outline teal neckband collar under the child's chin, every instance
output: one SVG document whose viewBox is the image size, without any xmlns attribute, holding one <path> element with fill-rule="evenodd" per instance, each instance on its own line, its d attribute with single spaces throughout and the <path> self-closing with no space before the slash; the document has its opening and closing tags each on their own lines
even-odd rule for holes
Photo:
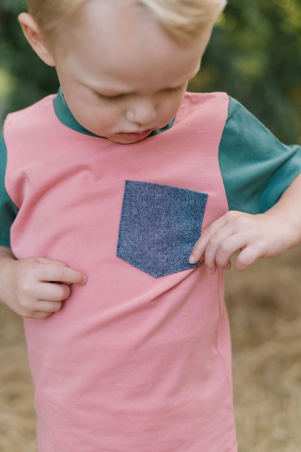
<svg viewBox="0 0 301 452">
<path fill-rule="evenodd" d="M 76 132 L 84 133 L 85 135 L 90 135 L 91 137 L 105 138 L 106 140 L 108 139 L 107 137 L 95 135 L 95 133 L 90 132 L 88 129 L 79 124 L 79 122 L 74 118 L 73 114 L 71 113 L 71 110 L 69 109 L 68 105 L 66 104 L 61 87 L 57 92 L 57 96 L 53 100 L 53 105 L 56 112 L 56 116 L 59 118 L 60 122 L 62 122 L 65 126 L 69 127 L 70 129 L 76 130 Z M 146 138 L 153 137 L 154 135 L 158 135 L 159 133 L 165 132 L 166 130 L 170 129 L 175 119 L 176 117 L 171 119 L 171 122 L 168 122 L 168 124 L 165 127 L 162 127 L 162 129 L 153 130 L 153 132 L 151 132 Z M 145 138 L 143 139 L 145 140 Z"/>
</svg>

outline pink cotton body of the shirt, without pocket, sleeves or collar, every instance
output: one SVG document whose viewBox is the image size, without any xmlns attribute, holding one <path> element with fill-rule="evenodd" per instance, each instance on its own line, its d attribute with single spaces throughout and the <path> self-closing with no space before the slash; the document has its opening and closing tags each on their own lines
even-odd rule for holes
<svg viewBox="0 0 301 452">
<path fill-rule="evenodd" d="M 15 256 L 88 276 L 60 311 L 24 319 L 39 452 L 237 451 L 223 272 L 154 278 L 116 257 L 125 180 L 208 193 L 202 233 L 227 212 L 227 94 L 186 93 L 171 129 L 129 145 L 66 127 L 54 97 L 4 128 Z"/>
</svg>

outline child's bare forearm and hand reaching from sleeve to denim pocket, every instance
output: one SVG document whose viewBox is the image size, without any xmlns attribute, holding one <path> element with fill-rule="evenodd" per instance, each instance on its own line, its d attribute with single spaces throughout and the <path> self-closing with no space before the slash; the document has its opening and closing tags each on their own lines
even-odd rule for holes
<svg viewBox="0 0 301 452">
<path fill-rule="evenodd" d="M 260 257 L 273 258 L 301 243 L 301 174 L 279 201 L 265 213 L 252 215 L 229 211 L 214 221 L 194 245 L 190 263 L 205 259 L 208 273 L 216 266 L 231 268 L 237 250 L 236 268 L 245 270 Z M 201 259 L 202 260 L 202 259 Z"/>
</svg>

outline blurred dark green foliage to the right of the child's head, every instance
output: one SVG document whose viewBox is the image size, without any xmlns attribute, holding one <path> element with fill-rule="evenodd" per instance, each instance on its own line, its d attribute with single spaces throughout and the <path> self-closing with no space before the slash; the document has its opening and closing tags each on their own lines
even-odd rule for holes
<svg viewBox="0 0 301 452">
<path fill-rule="evenodd" d="M 189 88 L 226 91 L 282 141 L 301 141 L 301 1 L 229 0 Z"/>
</svg>

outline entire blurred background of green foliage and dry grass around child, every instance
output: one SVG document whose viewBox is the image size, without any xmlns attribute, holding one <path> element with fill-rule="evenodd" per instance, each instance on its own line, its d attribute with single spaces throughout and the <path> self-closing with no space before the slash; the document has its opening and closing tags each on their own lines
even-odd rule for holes
<svg viewBox="0 0 301 452">
<path fill-rule="evenodd" d="M 54 68 L 0 0 L 0 128 L 56 93 Z M 301 144 L 301 1 L 229 0 L 189 91 L 226 91 L 286 144 Z M 227 273 L 239 452 L 301 451 L 301 246 Z M 0 451 L 37 452 L 23 320 L 0 305 Z M 201 451 L 206 452 L 206 451 Z"/>
</svg>

